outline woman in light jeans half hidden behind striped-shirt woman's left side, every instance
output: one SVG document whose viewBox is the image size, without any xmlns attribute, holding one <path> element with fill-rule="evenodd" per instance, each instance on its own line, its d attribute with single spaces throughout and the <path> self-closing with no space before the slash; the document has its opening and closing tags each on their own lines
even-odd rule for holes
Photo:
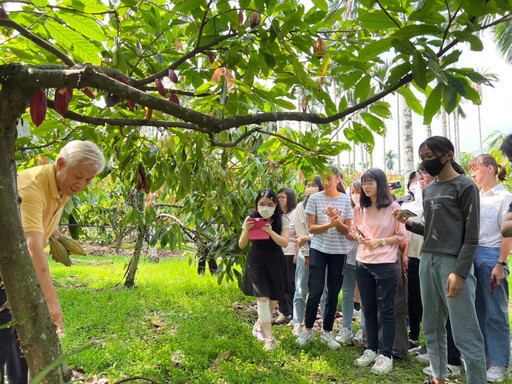
<svg viewBox="0 0 512 384">
<path fill-rule="evenodd" d="M 309 281 L 309 244 L 312 235 L 308 231 L 307 217 L 305 209 L 308 201 L 312 195 L 323 191 L 322 178 L 315 176 L 312 181 L 308 181 L 306 188 L 304 188 L 304 195 L 306 198 L 303 202 L 297 205 L 295 209 L 295 240 L 296 240 L 296 255 L 295 258 L 295 294 L 293 295 L 293 335 L 299 336 L 302 331 L 302 322 L 304 320 L 304 312 L 306 311 L 306 297 L 308 295 L 308 281 Z M 321 307 L 325 306 L 325 296 L 322 296 L 323 303 Z M 323 313 L 323 309 L 322 309 Z"/>
</svg>

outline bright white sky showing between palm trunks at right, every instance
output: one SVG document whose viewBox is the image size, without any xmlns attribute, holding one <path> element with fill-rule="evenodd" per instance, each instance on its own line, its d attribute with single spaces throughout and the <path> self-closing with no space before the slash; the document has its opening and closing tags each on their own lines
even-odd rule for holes
<svg viewBox="0 0 512 384">
<path fill-rule="evenodd" d="M 491 34 L 486 33 L 482 37 L 484 49 L 480 52 L 469 50 L 464 47 L 458 66 L 474 68 L 479 72 L 494 73 L 498 76 L 498 81 L 494 82 L 493 87 L 483 87 L 482 104 L 480 106 L 480 116 L 482 124 L 483 152 L 487 151 L 485 139 L 494 131 L 500 131 L 504 134 L 512 133 L 512 65 L 507 64 L 498 54 Z M 395 97 L 385 99 L 391 104 L 391 111 L 396 115 Z M 460 119 L 460 146 L 461 152 L 480 154 L 480 139 L 478 132 L 478 108 L 470 101 L 465 101 L 462 109 L 466 113 L 465 119 Z M 424 101 L 422 101 L 424 104 Z M 386 120 L 388 134 L 386 135 L 386 151 L 393 149 L 396 152 L 398 147 L 397 121 L 395 119 Z M 441 135 L 441 119 L 434 117 L 432 120 L 432 134 Z M 423 117 L 413 112 L 413 135 L 415 148 L 415 164 L 418 164 L 419 158 L 417 148 L 426 139 Z M 373 165 L 383 168 L 383 138 L 375 135 L 375 148 L 373 151 Z M 356 149 L 356 162 L 360 162 L 361 155 Z M 341 165 L 348 164 L 348 155 L 340 156 Z M 395 168 L 398 169 L 398 162 L 395 161 Z M 360 166 L 356 169 L 361 170 Z"/>
</svg>

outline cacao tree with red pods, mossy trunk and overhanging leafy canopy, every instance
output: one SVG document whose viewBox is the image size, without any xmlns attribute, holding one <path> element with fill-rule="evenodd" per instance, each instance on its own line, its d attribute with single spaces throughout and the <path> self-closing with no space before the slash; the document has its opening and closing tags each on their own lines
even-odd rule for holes
<svg viewBox="0 0 512 384">
<path fill-rule="evenodd" d="M 282 174 L 312 173 L 349 148 L 334 139 L 340 132 L 354 145 L 383 134 L 390 112 L 379 101 L 386 95 L 400 93 L 425 124 L 461 98 L 478 103 L 471 85 L 489 79 L 457 68 L 461 46 L 481 50 L 478 32 L 510 21 L 512 11 L 504 0 L 364 0 L 347 19 L 343 4 L 2 2 L 0 275 L 14 318 L 29 316 L 17 329 L 34 375 L 61 351 L 24 242 L 15 159 L 30 163 L 27 155 L 74 138 L 95 141 L 120 174 L 131 174 L 125 183 L 142 162 L 151 192 L 162 190 L 185 207 L 182 223 L 226 237 L 246 214 L 251 191 L 269 183 L 274 164 Z M 392 65 L 380 84 L 372 69 L 384 56 Z M 353 92 L 353 105 L 346 97 L 333 102 L 333 81 Z M 307 95 L 300 111 L 295 93 Z M 322 109 L 311 113 L 313 102 Z M 32 135 L 16 140 L 21 119 L 30 121 Z M 293 122 L 308 128 L 298 131 Z M 144 138 L 141 126 L 157 127 L 161 140 Z M 246 157 L 244 148 L 256 156 Z M 252 185 L 230 184 L 250 180 L 237 179 L 234 169 L 247 169 Z M 229 188 L 236 198 L 226 198 Z M 212 213 L 219 221 L 207 225 Z M 46 379 L 65 381 L 65 365 Z"/>
</svg>

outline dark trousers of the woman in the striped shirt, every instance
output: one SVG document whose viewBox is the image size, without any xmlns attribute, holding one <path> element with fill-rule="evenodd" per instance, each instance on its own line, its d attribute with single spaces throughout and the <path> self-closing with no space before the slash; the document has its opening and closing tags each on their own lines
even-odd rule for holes
<svg viewBox="0 0 512 384">
<path fill-rule="evenodd" d="M 306 328 L 313 328 L 318 304 L 327 285 L 323 329 L 330 332 L 336 316 L 338 295 L 343 284 L 343 269 L 347 255 L 324 253 L 314 248 L 309 250 L 309 255 L 309 297 L 306 304 Z"/>
</svg>

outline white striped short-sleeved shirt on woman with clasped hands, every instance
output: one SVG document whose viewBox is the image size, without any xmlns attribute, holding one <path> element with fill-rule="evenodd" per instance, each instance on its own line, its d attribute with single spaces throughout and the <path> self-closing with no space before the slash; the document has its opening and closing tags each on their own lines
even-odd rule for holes
<svg viewBox="0 0 512 384">
<path fill-rule="evenodd" d="M 325 209 L 329 204 L 333 209 L 338 208 L 342 221 L 353 218 L 354 210 L 350 205 L 350 197 L 344 193 L 336 198 L 327 197 L 324 192 L 315 193 L 309 197 L 306 214 L 315 216 L 315 224 L 317 225 L 328 224 L 331 219 L 325 213 Z M 331 255 L 348 253 L 347 239 L 336 227 L 315 234 L 311 240 L 311 248 Z"/>
</svg>

